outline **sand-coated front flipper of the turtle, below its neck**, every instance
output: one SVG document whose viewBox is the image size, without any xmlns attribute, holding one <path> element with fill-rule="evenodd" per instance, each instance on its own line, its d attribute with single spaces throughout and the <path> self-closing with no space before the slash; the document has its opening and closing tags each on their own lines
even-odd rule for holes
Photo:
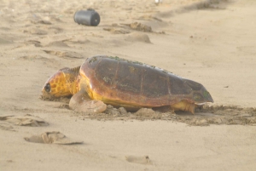
<svg viewBox="0 0 256 171">
<path fill-rule="evenodd" d="M 84 90 L 80 90 L 69 101 L 69 108 L 85 113 L 101 113 L 106 111 L 107 105 L 101 100 L 91 100 Z"/>
</svg>

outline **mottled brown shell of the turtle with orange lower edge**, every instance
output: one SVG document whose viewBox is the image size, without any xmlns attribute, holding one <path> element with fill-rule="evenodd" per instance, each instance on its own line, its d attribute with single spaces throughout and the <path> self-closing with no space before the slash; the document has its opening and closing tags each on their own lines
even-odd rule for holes
<svg viewBox="0 0 256 171">
<path fill-rule="evenodd" d="M 207 89 L 169 71 L 118 57 L 94 56 L 80 68 L 91 99 L 126 108 L 213 102 Z"/>
</svg>

